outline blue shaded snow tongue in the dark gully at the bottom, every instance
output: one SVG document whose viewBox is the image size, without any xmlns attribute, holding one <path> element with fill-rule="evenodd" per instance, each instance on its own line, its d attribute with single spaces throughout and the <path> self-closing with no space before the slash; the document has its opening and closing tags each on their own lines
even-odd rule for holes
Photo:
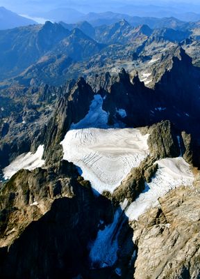
<svg viewBox="0 0 200 279">
<path fill-rule="evenodd" d="M 124 220 L 122 210 L 115 213 L 113 223 L 99 230 L 97 238 L 90 245 L 90 260 L 92 265 L 98 264 L 100 268 L 113 266 L 117 261 L 119 249 L 117 238 Z"/>
</svg>

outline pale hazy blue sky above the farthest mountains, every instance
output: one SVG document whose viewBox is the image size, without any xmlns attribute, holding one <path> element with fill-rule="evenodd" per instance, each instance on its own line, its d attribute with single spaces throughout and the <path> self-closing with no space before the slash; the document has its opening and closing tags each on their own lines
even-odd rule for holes
<svg viewBox="0 0 200 279">
<path fill-rule="evenodd" d="M 81 13 L 105 12 L 111 10 L 120 13 L 133 13 L 134 9 L 125 6 L 159 6 L 160 9 L 170 10 L 176 13 L 193 12 L 200 14 L 199 0 L 0 0 L 0 6 L 4 6 L 16 13 L 35 17 L 44 17 L 49 10 L 56 8 L 74 8 Z M 158 10 L 158 8 L 157 8 Z M 148 10 L 147 10 L 148 11 Z"/>
</svg>

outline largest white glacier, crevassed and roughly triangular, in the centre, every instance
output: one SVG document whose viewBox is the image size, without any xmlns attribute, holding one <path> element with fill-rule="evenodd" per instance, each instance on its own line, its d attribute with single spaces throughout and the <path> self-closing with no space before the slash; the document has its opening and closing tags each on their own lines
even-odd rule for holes
<svg viewBox="0 0 200 279">
<path fill-rule="evenodd" d="M 113 193 L 149 155 L 148 137 L 135 128 L 69 130 L 61 142 L 63 159 L 80 167 L 81 175 L 99 193 Z"/>
</svg>

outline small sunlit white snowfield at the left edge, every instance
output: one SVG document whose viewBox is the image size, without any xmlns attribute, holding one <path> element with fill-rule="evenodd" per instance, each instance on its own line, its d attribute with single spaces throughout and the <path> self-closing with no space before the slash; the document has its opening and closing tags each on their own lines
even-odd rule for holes
<svg viewBox="0 0 200 279">
<path fill-rule="evenodd" d="M 19 169 L 32 170 L 36 167 L 42 167 L 44 165 L 44 160 L 42 160 L 43 153 L 44 145 L 40 145 L 35 153 L 28 152 L 19 155 L 8 167 L 3 169 L 4 178 L 10 179 Z"/>
</svg>

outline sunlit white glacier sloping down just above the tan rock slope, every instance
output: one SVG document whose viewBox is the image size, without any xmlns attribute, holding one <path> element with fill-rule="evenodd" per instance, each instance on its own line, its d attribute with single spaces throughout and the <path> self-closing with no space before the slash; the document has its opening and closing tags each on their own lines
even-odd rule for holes
<svg viewBox="0 0 200 279">
<path fill-rule="evenodd" d="M 158 198 L 166 195 L 169 190 L 178 186 L 192 186 L 194 176 L 190 165 L 182 157 L 158 160 L 158 171 L 151 183 L 135 202 L 125 210 L 129 220 L 138 220 L 139 216 L 148 209 L 159 204 Z"/>
</svg>

